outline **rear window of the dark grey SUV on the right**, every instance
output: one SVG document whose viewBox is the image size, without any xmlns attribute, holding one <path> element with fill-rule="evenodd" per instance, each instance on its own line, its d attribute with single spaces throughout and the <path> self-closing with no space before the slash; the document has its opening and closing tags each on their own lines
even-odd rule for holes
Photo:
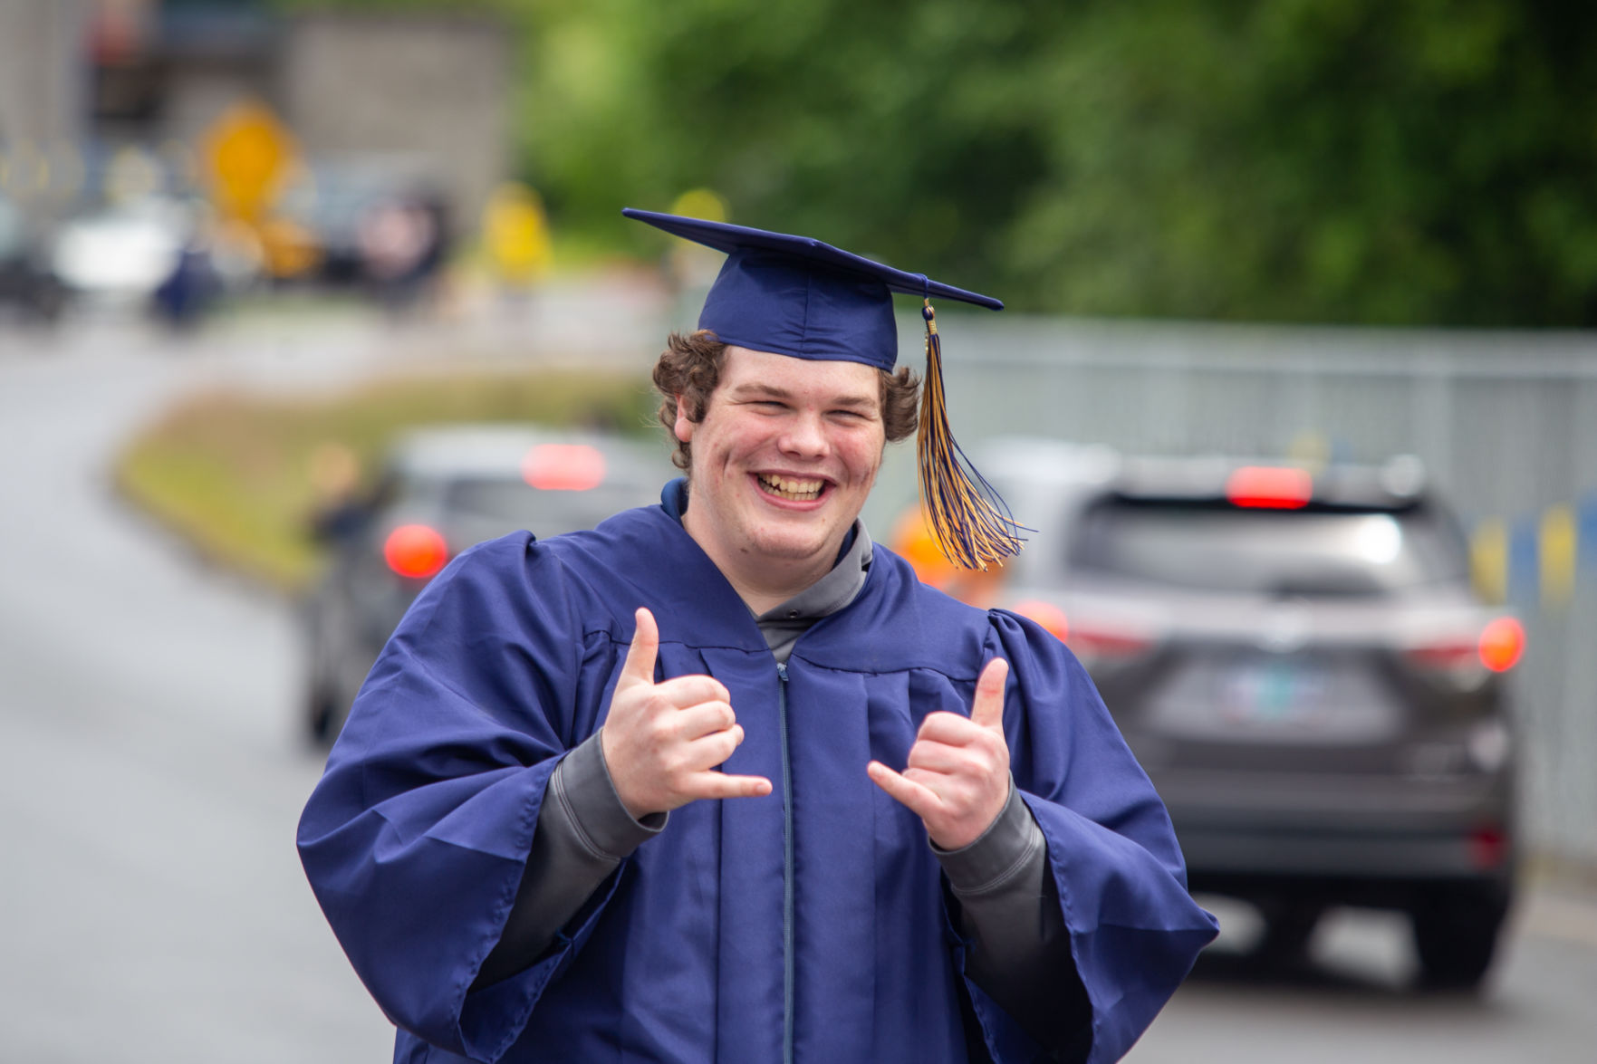
<svg viewBox="0 0 1597 1064">
<path fill-rule="evenodd" d="M 1468 578 L 1460 534 L 1434 510 L 1102 498 L 1086 508 L 1072 564 L 1207 591 L 1380 596 Z"/>
</svg>

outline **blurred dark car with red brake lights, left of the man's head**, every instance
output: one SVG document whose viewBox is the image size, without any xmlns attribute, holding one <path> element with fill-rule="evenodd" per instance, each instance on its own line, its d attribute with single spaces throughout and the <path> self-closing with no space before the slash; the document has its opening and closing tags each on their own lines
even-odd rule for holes
<svg viewBox="0 0 1597 1064">
<path fill-rule="evenodd" d="M 399 618 L 455 554 L 522 529 L 538 538 L 591 529 L 656 502 L 669 476 L 656 449 L 616 435 L 521 425 L 406 435 L 369 495 L 316 518 L 331 561 L 303 610 L 310 735 L 337 736 Z"/>
</svg>

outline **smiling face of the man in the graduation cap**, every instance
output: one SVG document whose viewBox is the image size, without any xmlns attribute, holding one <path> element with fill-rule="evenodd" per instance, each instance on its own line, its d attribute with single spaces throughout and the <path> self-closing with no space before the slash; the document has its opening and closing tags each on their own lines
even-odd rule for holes
<svg viewBox="0 0 1597 1064">
<path fill-rule="evenodd" d="M 676 435 L 693 444 L 684 527 L 751 605 L 775 605 L 830 570 L 866 505 L 878 371 L 728 347 L 704 420 L 679 409 Z"/>
</svg>

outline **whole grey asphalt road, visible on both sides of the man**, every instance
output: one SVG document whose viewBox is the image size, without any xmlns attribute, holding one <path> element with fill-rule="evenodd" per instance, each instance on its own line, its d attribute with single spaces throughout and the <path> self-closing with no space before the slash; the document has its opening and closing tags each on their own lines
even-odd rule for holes
<svg viewBox="0 0 1597 1064">
<path fill-rule="evenodd" d="M 0 332 L 0 1061 L 385 1061 L 386 1021 L 321 920 L 294 824 L 286 604 L 208 570 L 112 494 L 141 420 L 214 383 L 311 387 L 385 364 L 366 326 L 164 339 Z M 1527 893 L 1480 998 L 1409 989 L 1402 927 L 1338 914 L 1294 971 L 1249 914 L 1139 1064 L 1597 1059 L 1597 898 Z"/>
</svg>

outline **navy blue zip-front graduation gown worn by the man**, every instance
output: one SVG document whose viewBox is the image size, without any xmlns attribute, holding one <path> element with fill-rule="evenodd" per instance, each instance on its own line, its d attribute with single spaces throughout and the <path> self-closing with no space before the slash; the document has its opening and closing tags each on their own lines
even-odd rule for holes
<svg viewBox="0 0 1597 1064">
<path fill-rule="evenodd" d="M 671 813 L 529 970 L 471 991 L 522 879 L 549 773 L 602 722 L 632 637 L 707 673 L 763 799 Z M 1169 818 L 1070 652 L 921 585 L 888 550 L 797 642 L 786 679 L 749 610 L 661 506 L 455 559 L 361 689 L 299 847 L 396 1061 L 965 1061 L 961 991 L 995 1061 L 1038 1046 L 963 975 L 925 828 L 866 776 L 928 713 L 1012 669 L 1016 786 L 1048 839 L 1092 1061 L 1118 1059 L 1214 936 Z"/>
</svg>

